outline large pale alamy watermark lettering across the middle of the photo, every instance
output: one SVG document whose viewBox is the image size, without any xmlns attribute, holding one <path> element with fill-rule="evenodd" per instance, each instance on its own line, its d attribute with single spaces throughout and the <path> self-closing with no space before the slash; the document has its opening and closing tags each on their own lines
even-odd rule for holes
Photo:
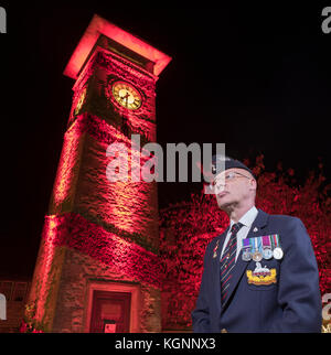
<svg viewBox="0 0 331 355">
<path fill-rule="evenodd" d="M 217 155 L 225 157 L 225 143 L 216 143 Z M 109 182 L 189 182 L 189 155 L 191 155 L 191 182 L 201 182 L 202 174 L 206 183 L 215 176 L 212 166 L 213 144 L 167 143 L 166 152 L 159 143 L 140 146 L 140 135 L 131 136 L 131 146 L 110 143 L 106 157 L 106 176 Z M 164 163 L 166 162 L 166 163 Z M 164 165 L 167 173 L 164 174 Z M 206 172 L 202 170 L 206 166 Z M 224 170 L 225 161 L 217 160 L 215 171 Z"/>
</svg>

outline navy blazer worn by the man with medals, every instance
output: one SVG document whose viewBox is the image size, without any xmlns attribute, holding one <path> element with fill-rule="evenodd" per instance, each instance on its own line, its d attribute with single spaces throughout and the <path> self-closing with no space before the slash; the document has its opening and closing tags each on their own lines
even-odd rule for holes
<svg viewBox="0 0 331 355">
<path fill-rule="evenodd" d="M 247 271 L 256 262 L 244 261 L 241 251 L 233 270 L 227 299 L 221 304 L 220 254 L 227 230 L 206 247 L 204 269 L 192 312 L 197 333 L 321 332 L 322 302 L 319 271 L 310 237 L 297 217 L 269 215 L 258 209 L 247 238 L 278 234 L 284 257 L 263 259 L 276 269 L 276 283 L 248 283 Z M 218 247 L 217 246 L 218 240 Z M 216 248 L 217 257 L 214 257 Z"/>
</svg>

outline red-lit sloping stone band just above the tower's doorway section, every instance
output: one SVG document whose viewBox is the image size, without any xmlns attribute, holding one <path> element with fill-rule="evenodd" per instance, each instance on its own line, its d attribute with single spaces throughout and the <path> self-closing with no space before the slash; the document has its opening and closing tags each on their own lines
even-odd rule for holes
<svg viewBox="0 0 331 355">
<path fill-rule="evenodd" d="M 107 265 L 119 276 L 130 277 L 160 288 L 160 263 L 157 255 L 105 230 L 77 214 L 46 216 L 42 238 L 45 243 L 46 263 L 41 272 L 43 275 L 41 300 L 44 300 L 46 284 L 50 281 L 55 246 L 66 246 L 81 251 Z"/>
</svg>

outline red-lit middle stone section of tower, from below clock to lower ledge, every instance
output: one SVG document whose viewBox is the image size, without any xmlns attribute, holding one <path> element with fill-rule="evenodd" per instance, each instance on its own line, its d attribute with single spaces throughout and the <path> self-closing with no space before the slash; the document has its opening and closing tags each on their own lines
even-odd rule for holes
<svg viewBox="0 0 331 355">
<path fill-rule="evenodd" d="M 89 149 L 82 152 L 81 137 L 84 133 L 87 133 L 84 143 Z M 120 143 L 130 152 L 128 181 L 109 182 L 107 179 L 106 168 L 111 159 L 106 155 L 106 151 L 107 146 L 114 142 Z M 75 208 L 78 211 L 84 211 L 119 230 L 130 234 L 138 232 L 156 244 L 158 215 L 157 206 L 152 202 L 154 185 L 132 181 L 132 169 L 141 169 L 132 162 L 137 155 L 140 155 L 140 150 L 132 149 L 131 140 L 115 127 L 96 116 L 81 115 L 65 135 L 51 213 L 70 211 L 75 198 Z M 141 165 L 147 159 L 140 158 Z M 82 164 L 79 168 L 79 160 L 94 161 L 93 169 L 88 164 Z M 87 191 L 93 193 L 86 195 Z"/>
</svg>

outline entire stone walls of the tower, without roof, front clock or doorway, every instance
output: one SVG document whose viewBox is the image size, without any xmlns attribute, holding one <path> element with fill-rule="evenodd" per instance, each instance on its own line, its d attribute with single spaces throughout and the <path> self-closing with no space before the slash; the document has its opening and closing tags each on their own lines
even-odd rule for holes
<svg viewBox="0 0 331 355">
<path fill-rule="evenodd" d="M 137 87 L 141 109 L 113 101 L 113 80 Z M 141 135 L 141 146 L 156 140 L 154 85 L 153 75 L 97 49 L 74 86 L 29 300 L 43 331 L 88 331 L 92 282 L 135 286 L 136 331 L 161 330 L 157 185 L 106 176 L 110 143 L 131 149 L 131 133 Z"/>
</svg>

